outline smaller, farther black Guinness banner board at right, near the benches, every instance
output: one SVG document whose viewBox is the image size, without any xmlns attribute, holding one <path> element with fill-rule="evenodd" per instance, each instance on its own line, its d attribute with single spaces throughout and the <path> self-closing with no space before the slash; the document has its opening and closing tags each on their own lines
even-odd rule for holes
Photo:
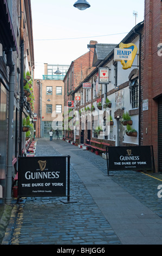
<svg viewBox="0 0 162 256">
<path fill-rule="evenodd" d="M 108 147 L 108 170 L 154 169 L 152 146 Z"/>
</svg>

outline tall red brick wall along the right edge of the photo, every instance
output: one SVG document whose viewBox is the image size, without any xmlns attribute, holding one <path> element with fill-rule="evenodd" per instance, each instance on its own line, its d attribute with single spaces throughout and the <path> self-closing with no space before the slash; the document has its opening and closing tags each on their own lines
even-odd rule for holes
<svg viewBox="0 0 162 256">
<path fill-rule="evenodd" d="M 145 0 L 141 66 L 141 144 L 153 145 L 156 171 L 162 171 L 162 2 Z M 146 109 L 146 110 L 145 110 Z"/>
</svg>

